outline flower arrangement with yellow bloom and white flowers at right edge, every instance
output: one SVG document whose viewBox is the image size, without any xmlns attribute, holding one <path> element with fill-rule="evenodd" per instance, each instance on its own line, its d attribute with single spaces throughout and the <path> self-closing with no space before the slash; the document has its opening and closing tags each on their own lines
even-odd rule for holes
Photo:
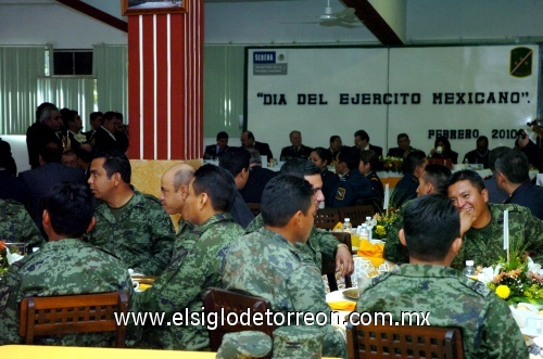
<svg viewBox="0 0 543 359">
<path fill-rule="evenodd" d="M 495 266 L 478 267 L 477 279 L 493 290 L 507 304 L 531 303 L 543 305 L 543 271 L 526 254 L 501 259 Z"/>
</svg>

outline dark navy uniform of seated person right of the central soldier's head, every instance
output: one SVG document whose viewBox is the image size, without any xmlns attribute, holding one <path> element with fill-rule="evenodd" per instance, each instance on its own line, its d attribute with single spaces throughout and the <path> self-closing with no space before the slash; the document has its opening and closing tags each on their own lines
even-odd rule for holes
<svg viewBox="0 0 543 359">
<path fill-rule="evenodd" d="M 351 169 L 338 183 L 332 200 L 332 207 L 354 206 L 356 205 L 356 201 L 371 198 L 372 196 L 371 182 L 357 168 Z"/>
</svg>

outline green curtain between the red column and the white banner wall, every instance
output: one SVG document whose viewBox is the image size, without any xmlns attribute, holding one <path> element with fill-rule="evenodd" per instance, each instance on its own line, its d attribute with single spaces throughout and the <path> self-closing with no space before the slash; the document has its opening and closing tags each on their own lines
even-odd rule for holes
<svg viewBox="0 0 543 359">
<path fill-rule="evenodd" d="M 204 46 L 204 138 L 226 131 L 231 138 L 243 124 L 243 46 Z"/>
</svg>

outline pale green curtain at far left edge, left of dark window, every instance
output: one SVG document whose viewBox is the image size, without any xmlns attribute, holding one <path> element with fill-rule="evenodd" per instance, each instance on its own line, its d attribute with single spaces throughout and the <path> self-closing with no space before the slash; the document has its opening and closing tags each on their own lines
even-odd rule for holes
<svg viewBox="0 0 543 359">
<path fill-rule="evenodd" d="M 0 133 L 25 134 L 36 120 L 36 81 L 45 75 L 46 47 L 0 47 Z"/>
</svg>

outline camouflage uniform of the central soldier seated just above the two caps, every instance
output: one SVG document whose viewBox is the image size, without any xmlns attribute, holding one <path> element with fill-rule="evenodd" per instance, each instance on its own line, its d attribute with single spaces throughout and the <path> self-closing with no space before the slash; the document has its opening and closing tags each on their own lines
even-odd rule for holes
<svg viewBox="0 0 543 359">
<path fill-rule="evenodd" d="M 291 312 L 324 312 L 328 324 L 315 326 L 323 333 L 323 355 L 345 356 L 345 342 L 330 325 L 320 271 L 298 246 L 262 228 L 232 243 L 226 258 L 223 283 L 268 299 L 272 310 L 287 318 Z M 287 321 L 286 321 L 287 324 Z M 292 318 L 291 324 L 296 324 Z M 303 320 L 300 325 L 304 325 Z"/>
</svg>

